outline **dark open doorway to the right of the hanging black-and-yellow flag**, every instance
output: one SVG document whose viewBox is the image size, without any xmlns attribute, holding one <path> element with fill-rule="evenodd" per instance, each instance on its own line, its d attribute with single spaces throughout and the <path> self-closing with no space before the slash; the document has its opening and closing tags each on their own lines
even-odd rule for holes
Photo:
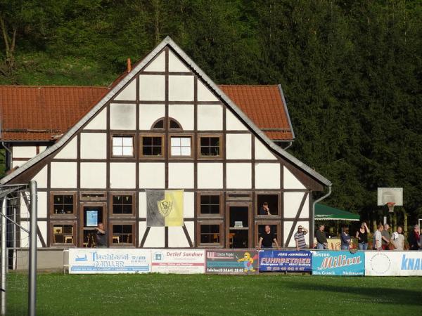
<svg viewBox="0 0 422 316">
<path fill-rule="evenodd" d="M 232 249 L 250 248 L 252 229 L 250 228 L 251 204 L 227 204 L 226 218 L 228 232 L 226 245 Z"/>
</svg>

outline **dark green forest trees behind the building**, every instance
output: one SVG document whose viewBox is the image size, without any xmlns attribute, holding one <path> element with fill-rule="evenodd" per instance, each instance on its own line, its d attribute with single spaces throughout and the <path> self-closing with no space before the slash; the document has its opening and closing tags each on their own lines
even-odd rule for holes
<svg viewBox="0 0 422 316">
<path fill-rule="evenodd" d="M 127 58 L 141 60 L 170 35 L 219 84 L 283 86 L 291 150 L 333 182 L 328 204 L 365 218 L 377 187 L 404 187 L 416 220 L 421 1 L 0 0 L 0 8 L 8 34 L 18 29 L 15 68 L 0 83 L 108 85 Z"/>
</svg>

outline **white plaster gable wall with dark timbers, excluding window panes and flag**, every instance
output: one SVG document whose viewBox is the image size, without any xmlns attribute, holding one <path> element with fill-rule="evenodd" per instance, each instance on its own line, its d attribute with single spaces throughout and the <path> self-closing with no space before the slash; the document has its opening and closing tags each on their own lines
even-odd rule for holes
<svg viewBox="0 0 422 316">
<path fill-rule="evenodd" d="M 149 64 L 134 73 L 132 81 L 74 131 L 72 138 L 53 153 L 34 177 L 41 189 L 39 227 L 47 246 L 52 244 L 54 223 L 73 225 L 72 245 L 82 246 L 84 221 L 80 209 L 84 205 L 101 204 L 106 208 L 103 221 L 110 235 L 113 225 L 134 225 L 131 245 L 147 248 L 204 246 L 200 242 L 203 223 L 220 225 L 221 240 L 212 246 L 227 247 L 232 229 L 230 208 L 236 205 L 248 207 L 250 247 L 256 246 L 255 225 L 264 225 L 266 221 L 271 225 L 279 223 L 278 238 L 281 244 L 290 247 L 294 246 L 294 239 L 288 239 L 292 228 L 295 230 L 298 225 L 309 228 L 312 187 L 302 180 L 309 176 L 290 162 L 286 164 L 286 158 L 257 135 L 248 121 L 234 114 L 218 91 L 211 91 L 173 50 L 172 46 L 165 46 Z M 166 54 L 169 65 L 165 65 Z M 160 119 L 165 120 L 163 128 L 153 129 Z M 167 126 L 169 119 L 175 119 L 180 128 L 171 130 Z M 112 137 L 122 132 L 133 137 L 132 157 L 112 157 Z M 162 157 L 141 156 L 140 140 L 144 135 L 162 137 Z M 174 135 L 191 138 L 190 156 L 170 157 L 170 138 Z M 201 156 L 201 136 L 220 139 L 217 156 Z M 29 159 L 36 154 L 36 148 L 16 147 L 14 154 Z M 300 173 L 304 175 L 298 176 Z M 184 227 L 147 228 L 145 189 L 184 189 Z M 74 195 L 74 213 L 68 217 L 53 216 L 49 221 L 53 196 L 62 191 Z M 89 192 L 104 196 L 83 200 L 82 194 L 89 196 Z M 116 192 L 133 195 L 132 216 L 110 214 Z M 208 217 L 200 214 L 200 197 L 204 192 L 221 196 L 219 214 Z M 232 199 L 231 195 L 238 197 Z M 276 214 L 258 214 L 260 195 L 278 197 Z M 298 211 L 300 215 L 295 221 Z"/>
</svg>

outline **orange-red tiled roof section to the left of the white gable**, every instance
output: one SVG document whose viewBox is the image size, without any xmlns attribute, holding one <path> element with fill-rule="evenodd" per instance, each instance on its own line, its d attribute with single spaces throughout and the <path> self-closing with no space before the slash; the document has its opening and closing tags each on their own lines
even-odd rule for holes
<svg viewBox="0 0 422 316">
<path fill-rule="evenodd" d="M 93 86 L 0 86 L 0 139 L 54 140 L 107 91 Z"/>
</svg>

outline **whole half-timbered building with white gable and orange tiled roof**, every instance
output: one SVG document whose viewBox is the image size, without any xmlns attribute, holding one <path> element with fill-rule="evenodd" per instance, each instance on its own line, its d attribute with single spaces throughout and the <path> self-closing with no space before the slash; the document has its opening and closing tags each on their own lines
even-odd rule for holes
<svg viewBox="0 0 422 316">
<path fill-rule="evenodd" d="M 94 216 L 109 246 L 252 248 L 271 225 L 292 247 L 331 187 L 281 147 L 294 138 L 281 86 L 217 86 L 169 37 L 109 88 L 1 89 L 38 105 L 32 129 L 18 110 L 4 119 L 0 184 L 37 180 L 39 246 L 93 246 Z M 184 190 L 183 225 L 148 227 L 146 190 Z"/>
</svg>

